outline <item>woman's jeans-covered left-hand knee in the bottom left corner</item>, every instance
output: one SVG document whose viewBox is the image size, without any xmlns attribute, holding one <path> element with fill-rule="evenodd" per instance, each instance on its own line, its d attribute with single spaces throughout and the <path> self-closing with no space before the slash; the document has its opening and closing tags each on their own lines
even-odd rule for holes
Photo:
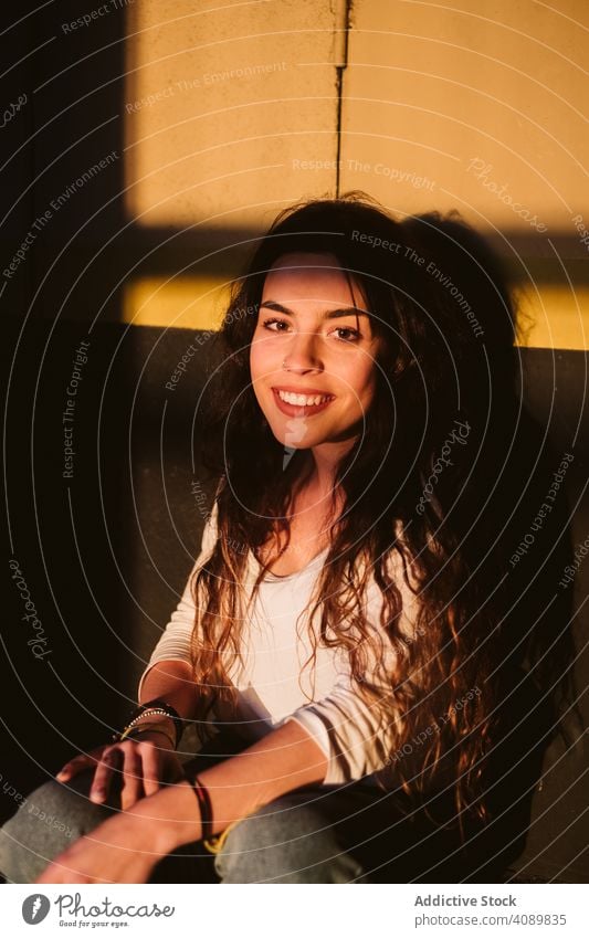
<svg viewBox="0 0 589 938">
<path fill-rule="evenodd" d="M 0 829 L 0 873 L 9 882 L 34 882 L 49 861 L 112 813 L 90 801 L 88 789 L 86 778 L 51 780 L 25 799 Z"/>
</svg>

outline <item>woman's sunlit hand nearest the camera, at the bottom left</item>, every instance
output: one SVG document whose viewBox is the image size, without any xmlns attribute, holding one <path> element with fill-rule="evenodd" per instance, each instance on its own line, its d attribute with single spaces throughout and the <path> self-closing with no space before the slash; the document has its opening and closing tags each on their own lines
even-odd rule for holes
<svg viewBox="0 0 589 938">
<path fill-rule="evenodd" d="M 80 837 L 45 867 L 36 883 L 147 883 L 166 854 L 158 852 L 159 821 L 115 814 Z"/>
</svg>

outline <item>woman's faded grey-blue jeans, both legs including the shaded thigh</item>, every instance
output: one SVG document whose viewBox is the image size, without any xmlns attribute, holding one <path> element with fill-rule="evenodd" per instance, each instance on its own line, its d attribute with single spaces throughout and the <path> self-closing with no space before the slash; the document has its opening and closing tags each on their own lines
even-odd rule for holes
<svg viewBox="0 0 589 938">
<path fill-rule="evenodd" d="M 186 768 L 198 773 L 212 763 L 211 756 L 202 759 Z M 104 805 L 88 800 L 92 776 L 48 781 L 0 829 L 7 882 L 34 882 L 53 857 L 119 810 L 116 794 Z M 198 816 L 196 802 L 194 811 Z M 150 882 L 395 883 L 427 881 L 430 870 L 431 882 L 452 882 L 455 849 L 424 812 L 408 814 L 398 794 L 358 782 L 306 787 L 232 826 L 217 855 L 194 842 L 164 857 Z"/>
</svg>

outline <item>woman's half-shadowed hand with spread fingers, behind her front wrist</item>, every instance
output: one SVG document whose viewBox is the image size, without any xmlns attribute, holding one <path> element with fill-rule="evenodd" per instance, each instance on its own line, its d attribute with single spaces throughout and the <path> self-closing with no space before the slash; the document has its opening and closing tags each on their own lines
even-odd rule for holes
<svg viewBox="0 0 589 938">
<path fill-rule="evenodd" d="M 65 763 L 56 774 L 57 781 L 70 781 L 75 774 L 95 768 L 90 789 L 92 801 L 102 804 L 108 799 L 113 781 L 120 783 L 120 807 L 124 811 L 141 798 L 159 791 L 160 782 L 183 778 L 182 766 L 165 735 L 141 733 L 135 739 L 111 742 L 82 752 Z"/>
</svg>

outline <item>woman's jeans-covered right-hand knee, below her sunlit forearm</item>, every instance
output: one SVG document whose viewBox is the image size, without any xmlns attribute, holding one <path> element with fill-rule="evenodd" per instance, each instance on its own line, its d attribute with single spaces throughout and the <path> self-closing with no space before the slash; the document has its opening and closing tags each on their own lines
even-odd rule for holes
<svg viewBox="0 0 589 938">
<path fill-rule="evenodd" d="M 217 857 L 223 883 L 349 883 L 361 875 L 320 798 L 285 795 L 230 829 Z"/>
</svg>

